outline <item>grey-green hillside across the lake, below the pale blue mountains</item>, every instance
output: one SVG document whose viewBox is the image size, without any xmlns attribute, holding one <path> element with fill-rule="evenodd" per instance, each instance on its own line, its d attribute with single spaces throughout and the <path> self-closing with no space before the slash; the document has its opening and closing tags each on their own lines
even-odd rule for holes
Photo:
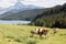
<svg viewBox="0 0 66 44">
<path fill-rule="evenodd" d="M 33 9 L 26 11 L 20 11 L 18 13 L 7 12 L 0 15 L 1 20 L 33 20 L 36 15 L 43 13 L 43 9 Z"/>
</svg>

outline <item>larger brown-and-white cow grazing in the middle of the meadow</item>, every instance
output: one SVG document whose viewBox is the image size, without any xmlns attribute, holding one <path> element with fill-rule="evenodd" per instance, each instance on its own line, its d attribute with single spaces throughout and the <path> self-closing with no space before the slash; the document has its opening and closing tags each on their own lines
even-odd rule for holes
<svg viewBox="0 0 66 44">
<path fill-rule="evenodd" d="M 34 31 L 31 31 L 32 34 L 38 34 L 40 36 L 45 35 L 45 38 L 50 35 L 48 29 L 35 29 Z"/>
</svg>

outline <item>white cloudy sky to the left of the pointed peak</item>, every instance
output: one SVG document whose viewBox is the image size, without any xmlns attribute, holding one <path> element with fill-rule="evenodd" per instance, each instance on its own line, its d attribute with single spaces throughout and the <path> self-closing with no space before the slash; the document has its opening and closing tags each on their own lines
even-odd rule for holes
<svg viewBox="0 0 66 44">
<path fill-rule="evenodd" d="M 16 0 L 0 0 L 0 8 L 9 8 L 11 6 L 14 6 Z"/>
</svg>

